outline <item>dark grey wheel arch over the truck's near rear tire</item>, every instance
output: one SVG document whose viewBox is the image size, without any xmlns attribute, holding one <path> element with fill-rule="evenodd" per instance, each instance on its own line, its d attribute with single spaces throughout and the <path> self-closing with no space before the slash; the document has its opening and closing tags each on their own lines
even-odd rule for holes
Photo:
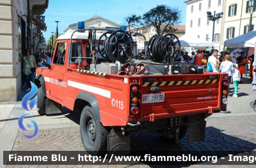
<svg viewBox="0 0 256 168">
<path fill-rule="evenodd" d="M 93 113 L 95 115 L 96 120 L 101 121 L 99 102 L 95 95 L 90 94 L 88 92 L 79 92 L 74 103 L 73 111 L 76 111 L 77 109 L 82 111 L 83 108 L 85 106 L 88 106 L 89 104 L 93 109 Z"/>
</svg>

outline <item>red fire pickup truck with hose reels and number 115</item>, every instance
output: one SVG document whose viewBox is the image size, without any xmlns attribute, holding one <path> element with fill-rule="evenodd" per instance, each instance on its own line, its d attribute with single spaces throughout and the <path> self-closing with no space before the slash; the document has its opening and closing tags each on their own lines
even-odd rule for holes
<svg viewBox="0 0 256 168">
<path fill-rule="evenodd" d="M 205 118 L 227 109 L 228 74 L 175 62 L 174 34 L 150 38 L 150 60 L 132 59 L 132 35 L 145 38 L 113 27 L 58 37 L 51 65 L 36 69 L 38 113 L 61 113 L 62 106 L 80 112 L 91 155 L 129 151 L 131 132 L 179 141 L 188 131 L 189 143 L 204 141 Z"/>
</svg>

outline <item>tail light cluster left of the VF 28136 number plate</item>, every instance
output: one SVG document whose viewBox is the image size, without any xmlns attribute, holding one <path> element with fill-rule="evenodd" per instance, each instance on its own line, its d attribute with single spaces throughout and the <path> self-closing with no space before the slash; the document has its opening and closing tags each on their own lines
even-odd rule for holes
<svg viewBox="0 0 256 168">
<path fill-rule="evenodd" d="M 139 115 L 140 113 L 140 85 L 138 84 L 132 84 L 130 85 L 130 115 Z"/>
</svg>

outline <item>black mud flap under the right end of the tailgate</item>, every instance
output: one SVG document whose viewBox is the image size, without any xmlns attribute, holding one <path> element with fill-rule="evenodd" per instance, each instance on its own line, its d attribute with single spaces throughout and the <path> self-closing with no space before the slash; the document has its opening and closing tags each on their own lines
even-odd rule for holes
<svg viewBox="0 0 256 168">
<path fill-rule="evenodd" d="M 206 121 L 189 123 L 188 125 L 188 143 L 204 141 Z"/>
</svg>

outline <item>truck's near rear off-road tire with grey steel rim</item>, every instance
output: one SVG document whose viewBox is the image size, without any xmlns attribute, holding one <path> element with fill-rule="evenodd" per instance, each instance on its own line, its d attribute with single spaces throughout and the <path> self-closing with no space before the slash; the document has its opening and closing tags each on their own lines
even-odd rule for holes
<svg viewBox="0 0 256 168">
<path fill-rule="evenodd" d="M 91 127 L 90 127 L 91 126 Z M 81 140 L 90 155 L 100 156 L 108 151 L 108 130 L 96 120 L 93 109 L 85 106 L 80 118 Z"/>
</svg>

